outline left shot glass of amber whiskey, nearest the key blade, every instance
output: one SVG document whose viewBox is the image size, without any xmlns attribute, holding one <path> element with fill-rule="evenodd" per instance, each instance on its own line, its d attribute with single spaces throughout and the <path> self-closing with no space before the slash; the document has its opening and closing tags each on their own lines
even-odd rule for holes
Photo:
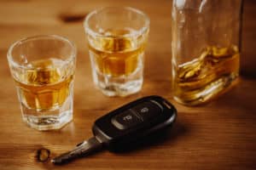
<svg viewBox="0 0 256 170">
<path fill-rule="evenodd" d="M 73 119 L 76 48 L 47 35 L 13 43 L 7 58 L 23 121 L 38 130 L 59 129 Z"/>
</svg>

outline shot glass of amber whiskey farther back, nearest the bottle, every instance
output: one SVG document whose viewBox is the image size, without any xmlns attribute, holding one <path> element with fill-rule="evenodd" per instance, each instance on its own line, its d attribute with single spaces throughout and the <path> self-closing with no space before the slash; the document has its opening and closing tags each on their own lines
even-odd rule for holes
<svg viewBox="0 0 256 170">
<path fill-rule="evenodd" d="M 101 8 L 88 14 L 84 30 L 96 87 L 108 96 L 140 91 L 148 16 L 135 8 Z"/>
</svg>

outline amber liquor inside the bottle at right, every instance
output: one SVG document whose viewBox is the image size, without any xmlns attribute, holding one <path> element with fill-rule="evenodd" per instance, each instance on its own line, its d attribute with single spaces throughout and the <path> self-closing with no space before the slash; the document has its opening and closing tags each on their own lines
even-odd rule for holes
<svg viewBox="0 0 256 170">
<path fill-rule="evenodd" d="M 178 65 L 175 98 L 185 105 L 198 105 L 222 94 L 238 77 L 239 59 L 236 46 L 207 47 L 199 58 Z"/>
</svg>

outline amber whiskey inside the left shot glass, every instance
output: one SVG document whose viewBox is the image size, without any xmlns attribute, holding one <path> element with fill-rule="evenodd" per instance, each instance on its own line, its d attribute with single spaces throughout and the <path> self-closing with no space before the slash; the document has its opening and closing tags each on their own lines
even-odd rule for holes
<svg viewBox="0 0 256 170">
<path fill-rule="evenodd" d="M 73 75 L 61 77 L 60 59 L 32 62 L 31 69 L 20 73 L 15 80 L 22 105 L 37 111 L 54 110 L 61 106 L 70 93 Z"/>
</svg>

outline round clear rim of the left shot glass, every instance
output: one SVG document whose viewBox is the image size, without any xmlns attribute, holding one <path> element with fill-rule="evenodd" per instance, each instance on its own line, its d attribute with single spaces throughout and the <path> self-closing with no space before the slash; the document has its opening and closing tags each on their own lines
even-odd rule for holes
<svg viewBox="0 0 256 170">
<path fill-rule="evenodd" d="M 20 65 L 17 62 L 15 62 L 15 60 L 13 59 L 13 55 L 12 55 L 12 52 L 13 52 L 14 48 L 17 47 L 18 45 L 20 45 L 23 42 L 27 42 L 27 41 L 30 41 L 30 40 L 37 40 L 37 39 L 41 39 L 41 38 L 50 38 L 50 37 L 54 38 L 54 39 L 58 39 L 62 42 L 67 42 L 70 45 L 70 47 L 72 48 L 72 54 L 67 59 L 63 59 L 63 61 L 64 61 L 63 65 L 67 65 L 68 63 L 73 61 L 73 59 L 76 58 L 77 48 L 76 48 L 76 46 L 73 42 L 68 40 L 67 37 L 61 37 L 61 36 L 58 36 L 58 35 L 55 35 L 55 34 L 49 34 L 49 35 L 38 35 L 38 36 L 32 36 L 32 37 L 24 37 L 24 38 L 21 38 L 20 40 L 18 40 L 16 42 L 13 42 L 10 45 L 10 47 L 8 49 L 8 52 L 7 52 L 7 59 L 9 61 L 9 64 L 15 65 L 15 67 L 21 68 L 21 69 L 31 69 L 31 68 L 28 68 L 25 65 Z"/>
</svg>

